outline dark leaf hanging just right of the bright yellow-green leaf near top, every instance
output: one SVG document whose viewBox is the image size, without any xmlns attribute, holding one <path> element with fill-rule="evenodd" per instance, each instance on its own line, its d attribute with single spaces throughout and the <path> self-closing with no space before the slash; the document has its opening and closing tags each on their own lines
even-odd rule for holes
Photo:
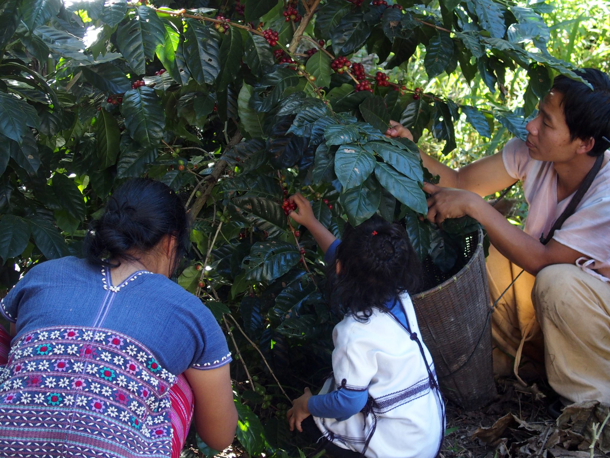
<svg viewBox="0 0 610 458">
<path fill-rule="evenodd" d="M 188 19 L 184 37 L 184 57 L 191 76 L 199 84 L 213 84 L 220 72 L 217 34 L 206 24 Z"/>
</svg>

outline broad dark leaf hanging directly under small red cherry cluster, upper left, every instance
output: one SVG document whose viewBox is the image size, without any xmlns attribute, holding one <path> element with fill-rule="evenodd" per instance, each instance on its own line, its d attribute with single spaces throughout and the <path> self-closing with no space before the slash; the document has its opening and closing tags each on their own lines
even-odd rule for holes
<svg viewBox="0 0 610 458">
<path fill-rule="evenodd" d="M 163 136 L 165 112 L 154 89 L 142 86 L 123 96 L 121 114 L 132 139 L 143 147 L 155 147 Z"/>
</svg>

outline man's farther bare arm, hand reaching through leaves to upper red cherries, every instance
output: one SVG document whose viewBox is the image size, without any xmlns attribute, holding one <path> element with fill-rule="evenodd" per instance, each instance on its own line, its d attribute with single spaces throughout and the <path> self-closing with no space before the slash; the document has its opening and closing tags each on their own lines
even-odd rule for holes
<svg viewBox="0 0 610 458">
<path fill-rule="evenodd" d="M 390 127 L 386 135 L 390 137 L 404 137 L 413 140 L 409 129 L 404 128 L 395 121 L 390 121 Z M 504 168 L 502 153 L 493 154 L 485 158 L 477 159 L 459 169 L 451 169 L 436 159 L 428 156 L 420 149 L 423 166 L 432 175 L 439 175 L 439 185 L 443 187 L 454 187 L 465 189 L 475 194 L 484 196 L 501 191 L 505 187 L 511 186 L 517 180 L 512 178 Z"/>
</svg>

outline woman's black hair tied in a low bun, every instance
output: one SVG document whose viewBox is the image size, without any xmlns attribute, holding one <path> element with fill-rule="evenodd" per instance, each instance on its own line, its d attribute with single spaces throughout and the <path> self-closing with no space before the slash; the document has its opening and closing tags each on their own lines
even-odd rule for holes
<svg viewBox="0 0 610 458">
<path fill-rule="evenodd" d="M 93 220 L 85 236 L 85 255 L 92 263 L 118 267 L 102 258 L 137 260 L 130 251 L 145 253 L 165 235 L 176 239 L 171 272 L 188 250 L 190 221 L 181 198 L 166 184 L 134 178 L 118 187 L 104 213 Z"/>
</svg>

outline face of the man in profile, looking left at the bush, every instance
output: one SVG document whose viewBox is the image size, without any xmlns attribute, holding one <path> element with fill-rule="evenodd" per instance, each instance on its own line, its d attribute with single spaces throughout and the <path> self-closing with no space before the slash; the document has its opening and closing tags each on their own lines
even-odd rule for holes
<svg viewBox="0 0 610 458">
<path fill-rule="evenodd" d="M 525 128 L 529 156 L 539 161 L 567 162 L 575 158 L 582 140 L 570 140 L 570 129 L 565 123 L 561 92 L 549 92 L 540 101 L 538 115 Z"/>
</svg>

